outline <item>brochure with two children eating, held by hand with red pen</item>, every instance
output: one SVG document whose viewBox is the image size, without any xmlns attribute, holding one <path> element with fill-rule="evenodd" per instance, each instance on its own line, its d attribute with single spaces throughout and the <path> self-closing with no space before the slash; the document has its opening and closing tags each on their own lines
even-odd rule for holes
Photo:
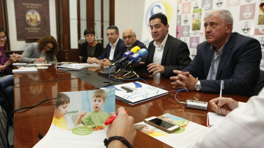
<svg viewBox="0 0 264 148">
<path fill-rule="evenodd" d="M 105 148 L 104 122 L 115 110 L 115 89 L 58 93 L 49 131 L 34 147 Z"/>
</svg>

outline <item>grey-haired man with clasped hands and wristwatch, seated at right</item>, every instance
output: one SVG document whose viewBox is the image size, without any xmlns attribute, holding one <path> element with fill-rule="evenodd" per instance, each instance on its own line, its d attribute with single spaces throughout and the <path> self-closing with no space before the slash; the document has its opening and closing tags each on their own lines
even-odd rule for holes
<svg viewBox="0 0 264 148">
<path fill-rule="evenodd" d="M 259 78 L 261 48 L 256 39 L 232 33 L 233 18 L 228 10 L 213 10 L 205 15 L 205 38 L 197 54 L 184 70 L 173 71 L 175 89 L 251 96 Z M 198 78 L 198 80 L 196 79 Z"/>
</svg>

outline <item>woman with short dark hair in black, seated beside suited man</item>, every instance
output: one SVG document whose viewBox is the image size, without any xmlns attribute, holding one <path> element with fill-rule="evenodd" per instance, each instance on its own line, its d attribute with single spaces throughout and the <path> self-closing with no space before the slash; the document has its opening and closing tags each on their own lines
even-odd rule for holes
<svg viewBox="0 0 264 148">
<path fill-rule="evenodd" d="M 86 42 L 81 44 L 80 61 L 87 62 L 87 58 L 99 57 L 103 52 L 103 45 L 95 41 L 95 30 L 87 28 L 83 32 Z"/>
</svg>

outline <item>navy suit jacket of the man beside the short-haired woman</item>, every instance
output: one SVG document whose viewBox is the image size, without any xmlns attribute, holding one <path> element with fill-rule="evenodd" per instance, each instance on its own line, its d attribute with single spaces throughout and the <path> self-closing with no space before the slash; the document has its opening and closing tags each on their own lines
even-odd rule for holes
<svg viewBox="0 0 264 148">
<path fill-rule="evenodd" d="M 110 60 L 111 63 L 116 62 L 117 60 L 122 58 L 123 53 L 124 53 L 124 48 L 125 48 L 125 44 L 124 44 L 123 40 L 119 39 L 119 41 L 116 44 L 116 48 L 115 48 L 115 52 L 114 52 L 114 58 L 113 58 L 113 60 Z M 104 59 L 104 58 L 109 59 L 110 51 L 111 51 L 111 46 L 110 46 L 110 43 L 108 43 L 106 45 L 105 52 L 100 57 L 98 57 L 97 59 Z"/>
</svg>

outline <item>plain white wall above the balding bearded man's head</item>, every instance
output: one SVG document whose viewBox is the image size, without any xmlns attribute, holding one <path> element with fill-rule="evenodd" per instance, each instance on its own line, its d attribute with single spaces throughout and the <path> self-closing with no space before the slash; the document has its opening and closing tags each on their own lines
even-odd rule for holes
<svg viewBox="0 0 264 148">
<path fill-rule="evenodd" d="M 144 14 L 143 0 L 115 0 L 115 25 L 119 29 L 120 38 L 125 28 L 133 28 L 137 39 L 141 41 L 142 21 Z"/>
</svg>

